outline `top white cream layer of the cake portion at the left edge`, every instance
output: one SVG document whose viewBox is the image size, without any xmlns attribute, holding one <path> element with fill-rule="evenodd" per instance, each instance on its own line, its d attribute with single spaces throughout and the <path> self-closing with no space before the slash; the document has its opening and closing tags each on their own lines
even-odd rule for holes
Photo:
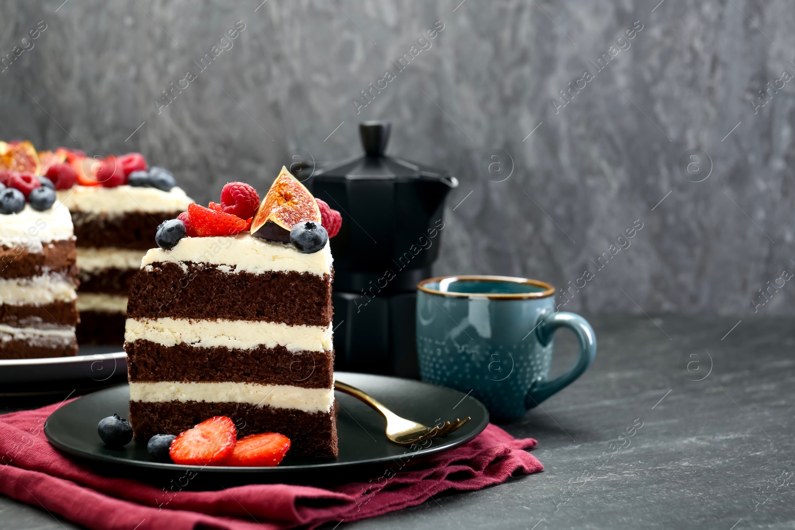
<svg viewBox="0 0 795 530">
<path fill-rule="evenodd" d="M 25 204 L 18 214 L 0 215 L 0 245 L 43 252 L 41 242 L 71 239 L 73 235 L 72 217 L 57 201 L 45 211 L 33 210 L 30 204 Z"/>
</svg>

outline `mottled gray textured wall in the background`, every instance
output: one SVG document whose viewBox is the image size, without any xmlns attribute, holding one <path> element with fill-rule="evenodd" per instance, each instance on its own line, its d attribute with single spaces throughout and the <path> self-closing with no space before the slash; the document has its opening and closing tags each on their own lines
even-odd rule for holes
<svg viewBox="0 0 795 530">
<path fill-rule="evenodd" d="M 657 1 L 4 0 L 2 56 L 29 47 L 38 21 L 47 29 L 0 73 L 0 137 L 140 150 L 207 201 L 227 180 L 266 186 L 290 149 L 358 153 L 357 122 L 386 119 L 391 153 L 461 181 L 438 273 L 560 286 L 590 269 L 566 309 L 749 315 L 759 288 L 795 271 L 795 80 L 776 83 L 795 74 L 795 10 Z M 199 72 L 192 61 L 235 21 L 246 29 Z M 359 91 L 435 21 L 431 48 L 357 114 Z M 630 47 L 611 50 L 635 21 L 618 43 Z M 597 72 L 589 60 L 611 51 Z M 197 79 L 158 113 L 188 69 Z M 586 69 L 594 78 L 552 103 Z M 783 87 L 758 99 L 768 82 Z M 481 169 L 490 149 L 510 155 L 507 180 L 494 182 L 504 154 L 502 173 Z M 711 159 L 690 180 L 688 149 Z M 597 269 L 590 260 L 636 219 L 629 248 Z M 759 313 L 795 314 L 795 284 L 781 282 Z"/>
</svg>

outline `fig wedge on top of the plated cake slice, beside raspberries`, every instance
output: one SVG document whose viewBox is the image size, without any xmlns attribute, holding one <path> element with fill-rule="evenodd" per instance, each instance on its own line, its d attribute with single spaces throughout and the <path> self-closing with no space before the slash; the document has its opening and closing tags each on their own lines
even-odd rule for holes
<svg viewBox="0 0 795 530">
<path fill-rule="evenodd" d="M 251 219 L 251 235 L 289 243 L 290 230 L 303 221 L 320 223 L 320 208 L 304 184 L 282 166 Z"/>
</svg>

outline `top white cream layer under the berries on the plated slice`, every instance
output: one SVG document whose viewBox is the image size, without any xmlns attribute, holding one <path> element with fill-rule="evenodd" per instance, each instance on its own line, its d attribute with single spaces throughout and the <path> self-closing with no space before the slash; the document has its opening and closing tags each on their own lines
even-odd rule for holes
<svg viewBox="0 0 795 530">
<path fill-rule="evenodd" d="M 332 273 L 333 259 L 328 243 L 316 253 L 304 254 L 288 243 L 265 241 L 246 233 L 222 238 L 183 238 L 171 250 L 149 250 L 141 266 L 169 261 L 221 265 L 226 273 L 295 271 L 323 276 Z"/>
</svg>

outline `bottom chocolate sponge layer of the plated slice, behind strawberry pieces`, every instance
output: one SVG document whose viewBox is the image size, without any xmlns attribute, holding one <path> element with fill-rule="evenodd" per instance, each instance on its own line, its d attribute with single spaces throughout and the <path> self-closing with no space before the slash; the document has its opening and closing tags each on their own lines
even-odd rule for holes
<svg viewBox="0 0 795 530">
<path fill-rule="evenodd" d="M 290 439 L 287 455 L 335 457 L 338 453 L 333 409 L 303 412 L 243 403 L 130 401 L 130 424 L 139 439 L 147 440 L 157 434 L 178 435 L 213 416 L 231 418 L 238 439 L 258 432 L 281 432 Z"/>
</svg>

